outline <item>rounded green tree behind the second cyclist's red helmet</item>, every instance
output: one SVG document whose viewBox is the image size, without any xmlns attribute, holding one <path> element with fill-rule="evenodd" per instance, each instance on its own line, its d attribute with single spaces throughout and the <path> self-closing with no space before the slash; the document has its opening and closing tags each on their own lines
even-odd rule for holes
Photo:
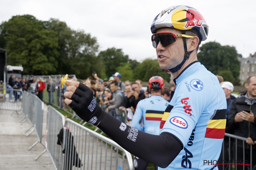
<svg viewBox="0 0 256 170">
<path fill-rule="evenodd" d="M 163 72 L 157 60 L 145 59 L 134 70 L 134 79 L 140 79 L 144 82 L 148 82 L 154 75 L 161 76 L 167 82 L 170 80 L 170 74 Z"/>
</svg>

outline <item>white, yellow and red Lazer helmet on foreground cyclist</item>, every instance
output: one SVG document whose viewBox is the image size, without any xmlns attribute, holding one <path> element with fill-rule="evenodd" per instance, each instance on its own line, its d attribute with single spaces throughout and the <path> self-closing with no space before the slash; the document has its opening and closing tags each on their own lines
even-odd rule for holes
<svg viewBox="0 0 256 170">
<path fill-rule="evenodd" d="M 151 24 L 152 34 L 159 28 L 174 28 L 177 30 L 197 29 L 202 41 L 207 39 L 208 24 L 202 14 L 195 8 L 186 5 L 171 6 L 158 14 Z"/>
</svg>

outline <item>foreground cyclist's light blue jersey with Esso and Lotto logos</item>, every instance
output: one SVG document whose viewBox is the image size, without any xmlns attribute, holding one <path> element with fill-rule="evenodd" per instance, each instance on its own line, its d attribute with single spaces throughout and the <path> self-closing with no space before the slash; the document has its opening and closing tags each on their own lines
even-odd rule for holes
<svg viewBox="0 0 256 170">
<path fill-rule="evenodd" d="M 226 97 L 217 77 L 198 61 L 175 79 L 174 96 L 165 110 L 160 133 L 168 132 L 183 149 L 165 169 L 216 170 L 226 128 Z M 161 170 L 163 168 L 158 168 Z"/>
</svg>

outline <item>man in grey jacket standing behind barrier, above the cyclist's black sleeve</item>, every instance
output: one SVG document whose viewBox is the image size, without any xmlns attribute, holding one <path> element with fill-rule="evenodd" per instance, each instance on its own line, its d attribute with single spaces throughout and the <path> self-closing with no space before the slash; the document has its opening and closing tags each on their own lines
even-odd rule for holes
<svg viewBox="0 0 256 170">
<path fill-rule="evenodd" d="M 113 105 L 108 106 L 106 108 L 106 112 L 116 117 L 118 120 L 125 122 L 123 112 L 119 110 L 119 107 L 121 106 L 124 99 L 123 92 L 118 89 L 118 83 L 116 81 L 113 81 L 110 84 L 110 89 L 113 94 L 113 99 L 110 100 L 110 103 L 113 103 Z"/>
</svg>

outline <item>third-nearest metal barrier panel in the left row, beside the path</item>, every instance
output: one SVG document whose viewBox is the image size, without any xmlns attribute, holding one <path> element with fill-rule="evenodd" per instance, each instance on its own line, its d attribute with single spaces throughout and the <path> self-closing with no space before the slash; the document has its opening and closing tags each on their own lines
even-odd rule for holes
<svg viewBox="0 0 256 170">
<path fill-rule="evenodd" d="M 23 113 L 25 117 L 20 120 L 21 124 L 27 120 L 31 123 L 31 126 L 27 129 L 27 133 L 31 128 L 33 128 L 26 136 L 29 136 L 33 131 L 35 131 L 38 141 L 36 141 L 28 150 L 32 149 L 37 143 L 42 143 L 42 132 L 43 132 L 43 113 L 44 113 L 44 103 L 35 95 L 29 94 L 24 91 L 24 102 L 23 102 Z"/>
</svg>

